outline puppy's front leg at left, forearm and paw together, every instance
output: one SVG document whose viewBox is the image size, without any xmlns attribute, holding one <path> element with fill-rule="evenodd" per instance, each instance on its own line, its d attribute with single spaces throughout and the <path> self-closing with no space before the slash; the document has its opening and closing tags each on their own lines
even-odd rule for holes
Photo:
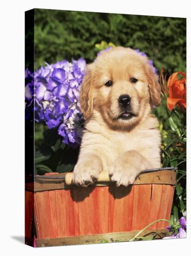
<svg viewBox="0 0 191 256">
<path fill-rule="evenodd" d="M 79 156 L 74 168 L 73 183 L 88 186 L 96 181 L 102 171 L 102 160 L 94 153 L 84 153 Z"/>
</svg>

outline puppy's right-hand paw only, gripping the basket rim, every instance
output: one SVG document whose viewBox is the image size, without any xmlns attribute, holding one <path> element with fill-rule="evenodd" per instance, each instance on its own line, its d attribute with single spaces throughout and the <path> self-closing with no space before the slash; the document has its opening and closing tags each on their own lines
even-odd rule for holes
<svg viewBox="0 0 191 256">
<path fill-rule="evenodd" d="M 121 185 L 128 186 L 129 184 L 133 184 L 138 174 L 139 170 L 137 170 L 134 166 L 120 163 L 114 163 L 109 171 L 111 180 L 116 182 L 117 187 Z"/>
</svg>

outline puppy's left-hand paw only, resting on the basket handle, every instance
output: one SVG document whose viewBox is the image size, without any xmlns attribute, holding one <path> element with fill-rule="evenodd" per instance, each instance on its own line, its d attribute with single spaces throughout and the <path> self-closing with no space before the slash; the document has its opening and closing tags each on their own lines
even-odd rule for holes
<svg viewBox="0 0 191 256">
<path fill-rule="evenodd" d="M 76 164 L 72 182 L 78 186 L 88 187 L 96 182 L 99 175 L 97 167 L 87 166 L 85 164 Z"/>
</svg>

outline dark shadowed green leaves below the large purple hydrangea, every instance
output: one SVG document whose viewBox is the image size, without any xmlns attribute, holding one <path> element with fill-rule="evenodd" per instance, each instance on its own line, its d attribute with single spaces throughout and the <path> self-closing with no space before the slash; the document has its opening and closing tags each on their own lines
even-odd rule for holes
<svg viewBox="0 0 191 256">
<path fill-rule="evenodd" d="M 70 172 L 77 162 L 79 148 L 71 148 L 62 142 L 57 129 L 35 124 L 35 174 Z"/>
</svg>

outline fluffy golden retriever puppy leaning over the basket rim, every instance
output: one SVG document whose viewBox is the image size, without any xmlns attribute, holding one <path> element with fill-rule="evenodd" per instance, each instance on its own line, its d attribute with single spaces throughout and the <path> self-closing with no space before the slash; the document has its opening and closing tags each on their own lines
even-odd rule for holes
<svg viewBox="0 0 191 256">
<path fill-rule="evenodd" d="M 158 76 L 145 56 L 115 47 L 87 65 L 79 98 L 85 118 L 73 182 L 87 186 L 108 171 L 116 186 L 160 168 L 160 133 L 150 112 L 160 104 Z"/>
</svg>

